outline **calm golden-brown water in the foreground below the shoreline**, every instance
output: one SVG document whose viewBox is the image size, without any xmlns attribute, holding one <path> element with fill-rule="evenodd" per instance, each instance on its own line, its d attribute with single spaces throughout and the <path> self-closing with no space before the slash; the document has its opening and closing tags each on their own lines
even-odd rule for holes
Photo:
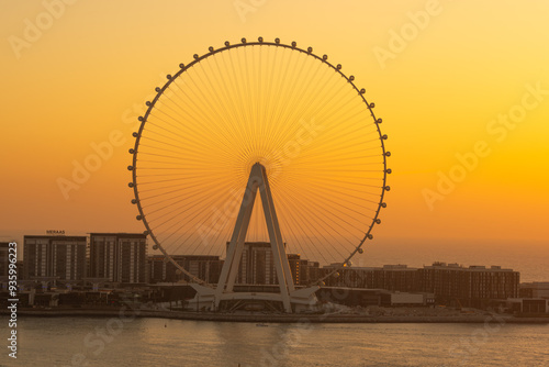
<svg viewBox="0 0 549 367">
<path fill-rule="evenodd" d="M 23 319 L 19 358 L 8 358 L 4 346 L 0 365 L 72 366 L 83 358 L 82 366 L 549 366 L 549 325 L 161 319 L 120 325 L 119 319 Z M 104 341 L 98 335 L 108 327 Z"/>
</svg>

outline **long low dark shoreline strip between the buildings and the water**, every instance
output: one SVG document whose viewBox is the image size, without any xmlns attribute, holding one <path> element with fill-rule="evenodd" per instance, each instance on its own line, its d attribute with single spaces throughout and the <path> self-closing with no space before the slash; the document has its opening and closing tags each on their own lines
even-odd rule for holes
<svg viewBox="0 0 549 367">
<path fill-rule="evenodd" d="M 155 310 L 18 310 L 20 316 L 31 318 L 154 318 L 191 321 L 220 322 L 256 322 L 256 323 L 512 323 L 512 324 L 549 324 L 549 318 L 516 318 L 511 315 L 357 315 L 357 314 L 235 314 L 209 313 L 186 311 L 155 311 Z M 2 310 L 0 314 L 7 314 Z"/>
</svg>

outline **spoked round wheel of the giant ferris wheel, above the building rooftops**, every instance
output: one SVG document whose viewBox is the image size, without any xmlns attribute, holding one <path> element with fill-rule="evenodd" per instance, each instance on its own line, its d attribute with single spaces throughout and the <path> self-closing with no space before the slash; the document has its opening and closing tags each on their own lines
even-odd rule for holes
<svg viewBox="0 0 549 367">
<path fill-rule="evenodd" d="M 279 38 L 225 42 L 180 64 L 146 102 L 130 149 L 132 203 L 154 248 L 203 283 L 171 255 L 226 256 L 257 169 L 285 253 L 350 266 L 381 222 L 391 173 L 382 120 L 354 79 Z M 266 203 L 254 200 L 245 241 L 268 242 Z"/>
</svg>

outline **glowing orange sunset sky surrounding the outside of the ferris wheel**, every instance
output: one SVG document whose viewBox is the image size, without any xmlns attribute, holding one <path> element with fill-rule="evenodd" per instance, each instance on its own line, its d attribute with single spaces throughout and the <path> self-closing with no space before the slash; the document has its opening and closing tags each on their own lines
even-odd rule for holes
<svg viewBox="0 0 549 367">
<path fill-rule="evenodd" d="M 144 101 L 194 53 L 260 35 L 329 55 L 376 102 L 393 169 L 373 232 L 380 244 L 547 246 L 545 1 L 242 0 L 240 13 L 234 1 L 45 3 L 55 5 L 0 3 L 0 236 L 143 231 L 125 167 Z M 497 122 L 520 111 L 517 122 Z M 74 163 L 94 153 L 90 144 L 119 132 L 112 157 L 65 197 L 58 179 L 70 180 Z M 478 142 L 489 153 L 451 192 L 438 192 L 439 173 L 462 173 L 456 155 Z"/>
</svg>

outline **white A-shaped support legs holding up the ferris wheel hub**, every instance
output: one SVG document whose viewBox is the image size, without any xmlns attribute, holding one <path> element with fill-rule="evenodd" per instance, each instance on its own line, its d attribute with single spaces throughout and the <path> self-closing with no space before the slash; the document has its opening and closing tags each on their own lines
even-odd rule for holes
<svg viewBox="0 0 549 367">
<path fill-rule="evenodd" d="M 222 294 L 233 292 L 258 189 L 261 197 L 267 229 L 269 231 L 269 238 L 277 269 L 282 304 L 284 305 L 284 311 L 291 313 L 292 305 L 290 302 L 290 292 L 293 292 L 295 288 L 293 285 L 292 273 L 290 270 L 290 264 L 288 263 L 288 256 L 285 255 L 284 243 L 282 242 L 282 234 L 280 232 L 277 212 L 274 211 L 274 203 L 272 201 L 272 194 L 267 179 L 267 171 L 259 163 L 256 163 L 249 173 L 248 185 L 246 186 L 246 191 L 244 192 L 233 236 L 227 248 L 227 257 L 225 259 L 225 264 L 223 264 L 217 288 L 215 289 L 215 309 L 219 309 L 220 307 Z"/>
</svg>

